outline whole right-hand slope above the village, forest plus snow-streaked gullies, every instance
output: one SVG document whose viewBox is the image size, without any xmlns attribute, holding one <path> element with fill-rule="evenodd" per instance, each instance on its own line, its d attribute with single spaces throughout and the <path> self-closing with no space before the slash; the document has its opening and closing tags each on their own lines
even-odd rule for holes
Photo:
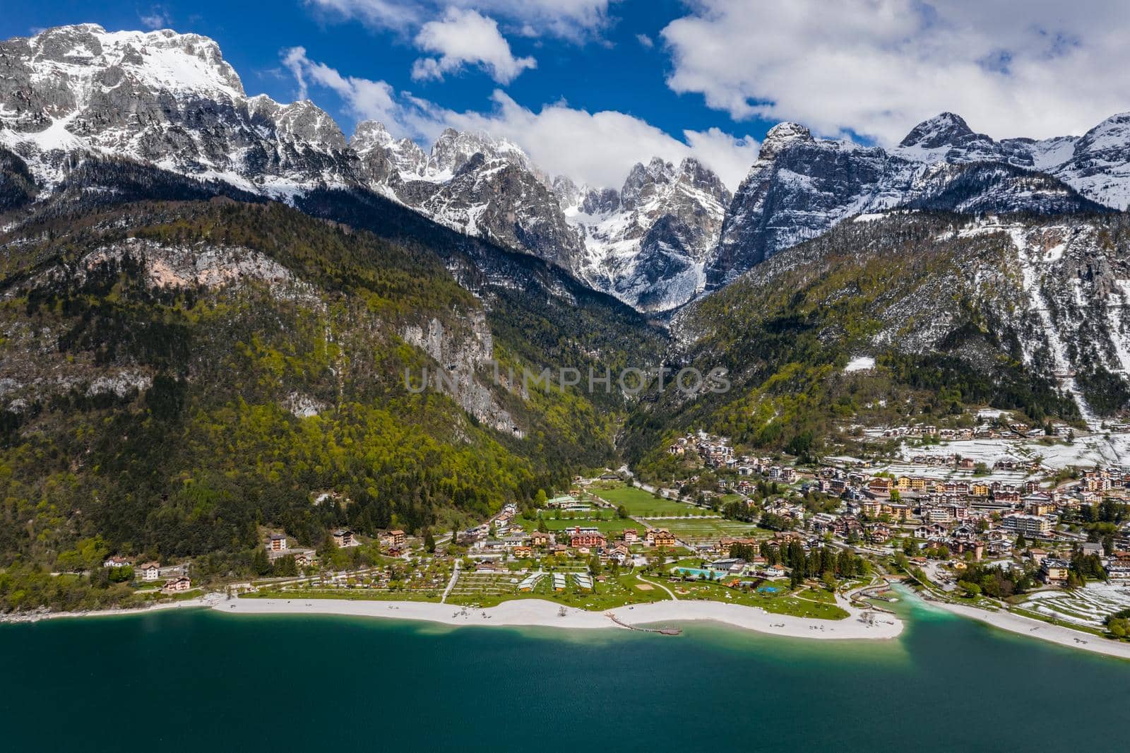
<svg viewBox="0 0 1130 753">
<path fill-rule="evenodd" d="M 1125 214 L 841 223 L 673 314 L 667 361 L 732 389 L 668 390 L 652 415 L 782 443 L 841 431 L 846 406 L 864 425 L 980 403 L 1110 426 L 1130 416 L 1128 250 Z"/>
</svg>

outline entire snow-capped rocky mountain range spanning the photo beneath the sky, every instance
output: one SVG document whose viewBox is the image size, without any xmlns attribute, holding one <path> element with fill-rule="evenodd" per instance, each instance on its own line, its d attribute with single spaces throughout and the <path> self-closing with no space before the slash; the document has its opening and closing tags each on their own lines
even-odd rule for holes
<svg viewBox="0 0 1130 753">
<path fill-rule="evenodd" d="M 654 312 L 859 214 L 1054 215 L 1130 205 L 1130 113 L 1081 137 L 1042 141 L 998 141 L 942 113 L 892 149 L 782 123 L 732 196 L 695 159 L 654 158 L 619 188 L 598 188 L 550 179 L 515 144 L 487 133 L 449 129 L 425 150 L 367 121 L 347 139 L 311 102 L 246 96 L 207 37 L 96 25 L 0 42 L 0 148 L 46 191 L 84 155 L 293 204 L 327 188 L 373 191 Z M 31 190 L 16 172 L 3 174 L 18 183 L 12 196 Z"/>
</svg>

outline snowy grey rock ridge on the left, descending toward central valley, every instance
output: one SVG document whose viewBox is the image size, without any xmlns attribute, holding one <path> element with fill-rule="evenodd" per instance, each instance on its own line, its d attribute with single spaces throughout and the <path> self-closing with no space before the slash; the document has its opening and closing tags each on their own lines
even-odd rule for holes
<svg viewBox="0 0 1130 753">
<path fill-rule="evenodd" d="M 515 145 L 447 130 L 426 154 L 375 122 L 347 141 L 311 102 L 247 97 L 218 45 L 194 34 L 82 25 L 0 44 L 0 146 L 49 189 L 94 154 L 284 200 L 363 187 L 566 268 L 582 250 Z"/>
</svg>

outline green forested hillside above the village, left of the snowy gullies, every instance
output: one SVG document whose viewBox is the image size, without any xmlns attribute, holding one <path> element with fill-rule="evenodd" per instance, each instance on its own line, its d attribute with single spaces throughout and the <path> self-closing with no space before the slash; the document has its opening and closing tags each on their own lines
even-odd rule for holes
<svg viewBox="0 0 1130 753">
<path fill-rule="evenodd" d="M 721 366 L 732 389 L 651 393 L 628 424 L 629 457 L 663 465 L 657 435 L 707 429 L 737 443 L 814 455 L 851 441 L 847 424 L 968 424 L 970 405 L 1079 419 L 1050 380 L 1024 366 L 1031 322 L 1010 246 L 946 239 L 951 215 L 847 224 L 777 254 L 672 322 L 689 345 L 672 360 Z M 845 372 L 857 355 L 876 367 Z"/>
</svg>

